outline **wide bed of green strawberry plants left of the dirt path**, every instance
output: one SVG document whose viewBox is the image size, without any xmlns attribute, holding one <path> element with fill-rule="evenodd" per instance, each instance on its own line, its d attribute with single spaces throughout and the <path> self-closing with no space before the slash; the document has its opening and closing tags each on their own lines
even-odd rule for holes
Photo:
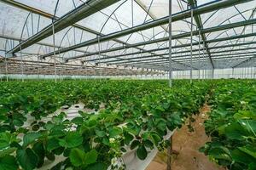
<svg viewBox="0 0 256 170">
<path fill-rule="evenodd" d="M 54 162 L 52 169 L 125 168 L 117 161 L 129 150 L 144 160 L 148 151 L 166 148 L 163 137 L 198 111 L 209 88 L 185 81 L 174 88 L 166 81 L 1 82 L 0 169 L 31 170 L 45 161 Z M 95 112 L 44 121 L 78 102 Z M 27 116 L 34 122 L 24 127 Z"/>
</svg>

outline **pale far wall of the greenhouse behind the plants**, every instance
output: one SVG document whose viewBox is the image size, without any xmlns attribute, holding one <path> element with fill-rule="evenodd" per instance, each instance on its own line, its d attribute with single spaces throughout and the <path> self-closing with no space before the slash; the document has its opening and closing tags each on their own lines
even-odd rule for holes
<svg viewBox="0 0 256 170">
<path fill-rule="evenodd" d="M 212 76 L 213 72 L 213 76 Z M 1 81 L 3 79 L 55 79 L 54 75 L 1 75 Z M 161 75 L 133 75 L 133 76 L 56 76 L 56 79 L 95 79 L 95 78 L 113 78 L 113 79 L 123 79 L 123 78 L 131 78 L 131 79 L 168 79 L 169 74 Z M 190 71 L 172 71 L 173 79 L 189 79 Z M 212 70 L 193 70 L 192 71 L 193 79 L 228 79 L 228 78 L 256 78 L 256 69 L 255 67 L 249 68 L 236 68 L 236 69 L 215 69 Z"/>
</svg>

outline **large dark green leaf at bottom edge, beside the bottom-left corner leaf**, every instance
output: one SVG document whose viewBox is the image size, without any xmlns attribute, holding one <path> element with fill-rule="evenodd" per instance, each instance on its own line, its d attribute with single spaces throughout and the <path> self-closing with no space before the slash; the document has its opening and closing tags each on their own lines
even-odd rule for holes
<svg viewBox="0 0 256 170">
<path fill-rule="evenodd" d="M 34 169 L 37 167 L 39 161 L 38 156 L 30 148 L 26 148 L 26 150 L 17 150 L 17 160 L 24 170 Z"/>
</svg>

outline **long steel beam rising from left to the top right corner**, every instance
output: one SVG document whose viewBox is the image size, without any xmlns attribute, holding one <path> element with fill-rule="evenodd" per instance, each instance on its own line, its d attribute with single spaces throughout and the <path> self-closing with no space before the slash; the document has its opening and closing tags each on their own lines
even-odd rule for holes
<svg viewBox="0 0 256 170">
<path fill-rule="evenodd" d="M 227 8 L 232 5 L 236 5 L 239 3 L 246 3 L 248 1 L 251 1 L 251 0 L 223 0 L 223 1 L 218 0 L 218 1 L 214 1 L 213 3 L 207 3 L 204 5 L 198 6 L 197 8 L 194 9 L 194 14 L 206 14 L 206 13 L 212 12 L 219 8 Z M 189 17 L 190 17 L 190 10 L 186 10 L 186 11 L 183 11 L 183 12 L 180 12 L 177 14 L 172 14 L 172 22 L 175 22 L 177 20 L 183 20 L 183 19 L 189 18 Z M 67 51 L 71 51 L 76 48 L 83 48 L 85 46 L 93 45 L 93 44 L 96 44 L 98 41 L 106 42 L 113 38 L 123 37 L 123 36 L 126 36 L 128 34 L 131 34 L 131 33 L 137 32 L 137 31 L 143 31 L 143 30 L 147 30 L 149 28 L 153 28 L 155 26 L 165 25 L 168 23 L 168 21 L 169 21 L 169 17 L 166 16 L 166 17 L 160 18 L 158 20 L 148 22 L 143 25 L 134 26 L 134 27 L 125 29 L 123 31 L 113 32 L 112 34 L 108 34 L 106 36 L 101 36 L 99 38 L 94 38 L 89 41 L 81 42 L 79 44 L 70 46 L 68 48 L 59 49 L 56 51 L 56 54 L 61 54 L 61 53 L 65 53 Z M 53 53 L 45 54 L 43 57 L 49 57 L 51 55 L 53 55 Z"/>
</svg>

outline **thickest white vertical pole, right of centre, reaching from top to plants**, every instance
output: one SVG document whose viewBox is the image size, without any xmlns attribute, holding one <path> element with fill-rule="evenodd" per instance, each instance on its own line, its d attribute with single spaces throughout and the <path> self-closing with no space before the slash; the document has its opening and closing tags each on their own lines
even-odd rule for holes
<svg viewBox="0 0 256 170">
<path fill-rule="evenodd" d="M 172 88 L 172 0 L 169 0 L 169 87 Z"/>
</svg>

